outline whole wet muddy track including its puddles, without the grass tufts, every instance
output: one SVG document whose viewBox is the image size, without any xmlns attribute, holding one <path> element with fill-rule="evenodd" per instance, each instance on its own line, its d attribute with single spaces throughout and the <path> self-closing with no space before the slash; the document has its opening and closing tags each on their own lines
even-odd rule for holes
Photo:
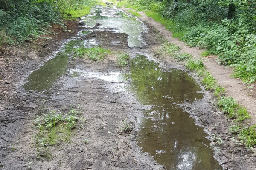
<svg viewBox="0 0 256 170">
<path fill-rule="evenodd" d="M 3 105 L 0 168 L 222 169 L 205 129 L 198 126 L 206 117 L 215 119 L 209 112 L 211 97 L 177 64 L 152 60 L 152 49 L 162 42 L 157 32 L 115 7 L 96 6 L 80 22 L 70 40 L 128 52 L 130 67 L 117 66 L 118 53 L 93 62 L 60 55 L 60 45 L 44 66 L 32 73 L 28 69 L 16 96 Z M 47 147 L 49 157 L 44 156 L 35 144 L 34 120 L 49 111 L 67 113 L 71 106 L 81 110 L 71 139 Z M 131 125 L 128 133 L 121 133 L 124 121 Z"/>
</svg>

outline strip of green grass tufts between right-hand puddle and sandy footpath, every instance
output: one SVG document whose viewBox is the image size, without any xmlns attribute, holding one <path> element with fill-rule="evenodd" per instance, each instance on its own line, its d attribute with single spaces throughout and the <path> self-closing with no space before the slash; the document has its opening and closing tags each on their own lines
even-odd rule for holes
<svg viewBox="0 0 256 170">
<path fill-rule="evenodd" d="M 239 105 L 232 97 L 224 96 L 225 89 L 218 85 L 218 82 L 212 74 L 205 69 L 202 59 L 193 59 L 191 56 L 180 53 L 180 48 L 177 45 L 171 44 L 167 41 L 161 45 L 160 49 L 157 51 L 157 55 L 158 54 L 168 54 L 179 61 L 185 60 L 186 68 L 197 72 L 198 76 L 201 77 L 201 82 L 205 86 L 206 90 L 211 90 L 213 92 L 217 99 L 216 104 L 218 108 L 228 117 L 234 119 L 234 122 L 239 122 L 239 124 L 230 127 L 230 132 L 236 133 L 240 140 L 239 142 L 244 144 L 247 148 L 252 148 L 256 145 L 256 125 L 250 127 L 239 126 L 245 119 L 251 118 L 247 112 L 247 108 Z M 218 137 L 216 138 L 218 144 L 221 144 L 222 142 L 217 139 Z"/>
</svg>

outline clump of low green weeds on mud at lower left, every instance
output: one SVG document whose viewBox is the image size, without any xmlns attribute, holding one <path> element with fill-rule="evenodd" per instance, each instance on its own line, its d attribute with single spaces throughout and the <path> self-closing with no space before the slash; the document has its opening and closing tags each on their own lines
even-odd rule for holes
<svg viewBox="0 0 256 170">
<path fill-rule="evenodd" d="M 79 120 L 79 113 L 80 111 L 73 108 L 67 114 L 50 111 L 49 114 L 44 114 L 35 120 L 34 128 L 37 129 L 35 144 L 38 147 L 38 158 L 49 159 L 51 157 L 49 147 L 70 141 L 74 133 L 73 129 L 76 128 Z"/>
</svg>

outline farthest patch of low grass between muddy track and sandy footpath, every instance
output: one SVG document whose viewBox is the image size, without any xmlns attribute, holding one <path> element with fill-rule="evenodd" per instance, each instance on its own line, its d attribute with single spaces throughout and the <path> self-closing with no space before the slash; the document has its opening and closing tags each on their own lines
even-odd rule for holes
<svg viewBox="0 0 256 170">
<path fill-rule="evenodd" d="M 171 57 L 177 59 L 178 61 L 184 61 L 192 58 L 191 55 L 180 52 L 180 47 L 175 44 L 172 44 L 165 40 L 165 42 L 161 45 L 160 49 L 156 52 L 156 54 L 168 54 Z"/>
</svg>

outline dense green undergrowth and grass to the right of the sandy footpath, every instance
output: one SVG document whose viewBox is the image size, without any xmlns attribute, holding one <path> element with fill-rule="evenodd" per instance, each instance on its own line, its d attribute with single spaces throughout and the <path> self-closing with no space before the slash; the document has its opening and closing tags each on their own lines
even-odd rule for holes
<svg viewBox="0 0 256 170">
<path fill-rule="evenodd" d="M 190 46 L 207 48 L 219 61 L 235 66 L 234 76 L 256 80 L 256 1 L 127 0 L 137 10 L 154 12 L 162 23 Z M 148 10 L 149 9 L 149 10 Z M 178 35 L 178 36 L 177 36 Z"/>
</svg>

